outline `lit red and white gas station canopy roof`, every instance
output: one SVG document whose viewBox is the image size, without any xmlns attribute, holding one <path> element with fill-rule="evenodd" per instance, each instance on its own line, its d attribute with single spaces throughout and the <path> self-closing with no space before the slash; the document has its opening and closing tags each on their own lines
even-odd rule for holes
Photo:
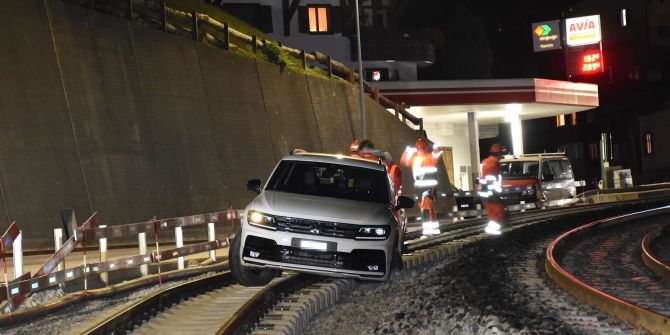
<svg viewBox="0 0 670 335">
<path fill-rule="evenodd" d="M 380 92 L 411 106 L 411 113 L 431 123 L 467 123 L 476 112 L 480 124 L 510 117 L 535 119 L 598 107 L 598 85 L 523 78 L 380 82 Z"/>
</svg>

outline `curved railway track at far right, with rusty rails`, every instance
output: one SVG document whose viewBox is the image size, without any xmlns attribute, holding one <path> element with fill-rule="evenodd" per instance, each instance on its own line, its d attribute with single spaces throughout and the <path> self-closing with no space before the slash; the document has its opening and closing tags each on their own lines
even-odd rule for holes
<svg viewBox="0 0 670 335">
<path fill-rule="evenodd" d="M 658 261 L 650 242 L 670 225 L 668 213 L 670 206 L 575 228 L 551 243 L 546 270 L 559 286 L 607 314 L 670 334 L 670 284 L 643 261 Z"/>
</svg>

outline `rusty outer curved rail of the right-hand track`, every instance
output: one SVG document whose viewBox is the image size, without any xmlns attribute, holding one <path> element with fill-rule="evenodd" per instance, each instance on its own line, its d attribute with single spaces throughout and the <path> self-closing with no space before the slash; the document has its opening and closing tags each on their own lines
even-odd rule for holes
<svg viewBox="0 0 670 335">
<path fill-rule="evenodd" d="M 572 238 L 580 233 L 583 233 L 589 228 L 606 223 L 640 219 L 642 217 L 659 214 L 660 212 L 667 211 L 668 209 L 670 209 L 670 206 L 606 218 L 564 233 L 556 240 L 554 240 L 547 248 L 545 268 L 549 274 L 549 277 L 573 296 L 592 306 L 595 306 L 607 314 L 627 321 L 635 326 L 642 327 L 652 333 L 670 334 L 670 318 L 668 316 L 656 313 L 646 308 L 642 308 L 638 305 L 609 295 L 586 284 L 570 272 L 566 271 L 558 263 L 555 257 L 555 252 L 559 245 L 566 243 L 568 238 Z"/>
</svg>

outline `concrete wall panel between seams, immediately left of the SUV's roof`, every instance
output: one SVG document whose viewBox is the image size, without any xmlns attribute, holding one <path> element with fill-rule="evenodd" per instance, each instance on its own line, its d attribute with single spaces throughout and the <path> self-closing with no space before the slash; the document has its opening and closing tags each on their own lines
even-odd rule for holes
<svg viewBox="0 0 670 335">
<path fill-rule="evenodd" d="M 276 163 L 256 63 L 204 45 L 198 55 L 226 192 L 243 208 L 255 196 L 244 182 L 267 180 Z"/>
</svg>

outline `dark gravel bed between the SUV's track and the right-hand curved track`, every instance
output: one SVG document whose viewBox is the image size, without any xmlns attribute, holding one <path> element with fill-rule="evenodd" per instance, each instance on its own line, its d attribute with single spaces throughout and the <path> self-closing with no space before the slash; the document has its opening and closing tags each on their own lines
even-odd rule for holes
<svg viewBox="0 0 670 335">
<path fill-rule="evenodd" d="M 582 215 L 579 223 L 590 219 Z M 575 225 L 538 224 L 466 247 L 457 258 L 434 266 L 397 272 L 386 283 L 361 283 L 321 313 L 306 334 L 632 333 L 562 292 L 544 274 L 544 248 Z M 510 270 L 519 267 L 528 274 Z M 551 291 L 541 292 L 545 289 Z M 554 305 L 555 299 L 563 305 Z M 571 318 L 571 313 L 584 317 Z"/>
</svg>

